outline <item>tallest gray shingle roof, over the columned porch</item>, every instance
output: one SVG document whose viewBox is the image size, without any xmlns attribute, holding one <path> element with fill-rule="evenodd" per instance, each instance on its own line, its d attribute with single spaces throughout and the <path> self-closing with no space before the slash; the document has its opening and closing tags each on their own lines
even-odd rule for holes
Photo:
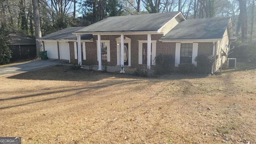
<svg viewBox="0 0 256 144">
<path fill-rule="evenodd" d="M 76 32 L 140 32 L 156 31 L 179 12 L 111 16 Z"/>
</svg>

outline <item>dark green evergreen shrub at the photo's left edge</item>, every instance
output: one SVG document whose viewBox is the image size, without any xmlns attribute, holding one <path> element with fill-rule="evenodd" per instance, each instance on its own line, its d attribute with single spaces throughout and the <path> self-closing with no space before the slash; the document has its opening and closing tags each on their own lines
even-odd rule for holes
<svg viewBox="0 0 256 144">
<path fill-rule="evenodd" d="M 9 48 L 8 40 L 8 32 L 3 27 L 0 28 L 0 64 L 10 63 L 10 58 L 12 58 L 12 50 Z"/>
</svg>

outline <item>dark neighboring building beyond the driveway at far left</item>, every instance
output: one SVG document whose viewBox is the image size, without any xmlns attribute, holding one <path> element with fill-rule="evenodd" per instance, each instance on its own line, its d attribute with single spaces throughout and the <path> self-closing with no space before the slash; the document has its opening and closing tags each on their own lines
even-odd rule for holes
<svg viewBox="0 0 256 144">
<path fill-rule="evenodd" d="M 34 58 L 36 56 L 36 38 L 11 32 L 10 46 L 12 48 L 12 59 Z"/>
</svg>

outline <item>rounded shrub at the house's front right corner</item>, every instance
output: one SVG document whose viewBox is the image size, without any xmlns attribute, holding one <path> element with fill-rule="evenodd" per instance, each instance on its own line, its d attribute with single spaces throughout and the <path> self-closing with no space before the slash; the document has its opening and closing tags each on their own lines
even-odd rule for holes
<svg viewBox="0 0 256 144">
<path fill-rule="evenodd" d="M 196 56 L 195 61 L 197 62 L 198 73 L 208 74 L 211 72 L 214 56 L 198 55 Z"/>
</svg>

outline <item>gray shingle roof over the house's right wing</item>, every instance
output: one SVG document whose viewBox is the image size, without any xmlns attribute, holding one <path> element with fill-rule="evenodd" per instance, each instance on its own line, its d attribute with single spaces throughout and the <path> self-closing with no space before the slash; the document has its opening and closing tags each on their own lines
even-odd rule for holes
<svg viewBox="0 0 256 144">
<path fill-rule="evenodd" d="M 222 38 L 230 17 L 190 19 L 180 22 L 162 40 Z"/>
</svg>

